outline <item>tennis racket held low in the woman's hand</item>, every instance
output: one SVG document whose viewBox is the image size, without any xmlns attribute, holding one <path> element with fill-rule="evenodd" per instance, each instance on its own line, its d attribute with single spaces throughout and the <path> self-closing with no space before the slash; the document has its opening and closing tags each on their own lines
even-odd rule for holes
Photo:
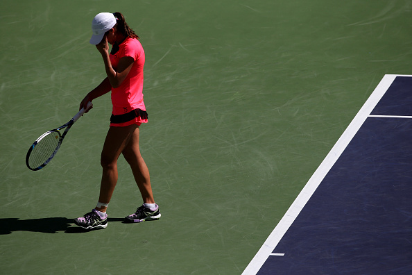
<svg viewBox="0 0 412 275">
<path fill-rule="evenodd" d="M 74 122 L 76 122 L 77 119 L 79 119 L 87 110 L 92 108 L 92 106 L 92 102 L 87 103 L 86 108 L 82 108 L 78 111 L 78 113 L 70 119 L 67 124 L 40 135 L 40 138 L 37 138 L 37 140 L 31 145 L 30 149 L 28 149 L 26 155 L 26 165 L 28 169 L 37 171 L 46 166 L 57 153 L 63 139 L 71 126 L 73 126 Z M 60 131 L 63 129 L 65 129 L 65 131 L 61 133 Z"/>
</svg>

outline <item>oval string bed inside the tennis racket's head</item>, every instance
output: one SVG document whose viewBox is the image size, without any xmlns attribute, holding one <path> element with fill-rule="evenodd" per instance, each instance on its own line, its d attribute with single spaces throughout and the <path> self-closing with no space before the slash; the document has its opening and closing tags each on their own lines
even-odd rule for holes
<svg viewBox="0 0 412 275">
<path fill-rule="evenodd" d="M 28 165 L 34 169 L 46 163 L 59 146 L 59 142 L 60 133 L 49 132 L 48 135 L 37 141 L 28 158 Z"/>
</svg>

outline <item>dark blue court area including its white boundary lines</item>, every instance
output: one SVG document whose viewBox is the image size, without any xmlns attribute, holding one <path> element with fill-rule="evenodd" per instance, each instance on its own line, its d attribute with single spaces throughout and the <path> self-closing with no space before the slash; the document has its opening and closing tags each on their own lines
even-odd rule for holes
<svg viewBox="0 0 412 275">
<path fill-rule="evenodd" d="M 412 274 L 412 76 L 386 75 L 243 274 Z"/>
</svg>

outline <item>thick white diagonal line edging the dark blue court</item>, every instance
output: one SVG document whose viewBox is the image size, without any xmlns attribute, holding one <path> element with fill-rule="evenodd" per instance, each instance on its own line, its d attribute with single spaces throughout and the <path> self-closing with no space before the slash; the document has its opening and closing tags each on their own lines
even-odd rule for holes
<svg viewBox="0 0 412 275">
<path fill-rule="evenodd" d="M 257 274 L 268 257 L 273 254 L 272 251 L 283 238 L 286 231 L 295 221 L 296 217 L 298 217 L 302 208 L 306 205 L 307 201 L 309 201 L 312 194 L 314 194 L 316 188 L 318 188 L 319 184 L 323 181 L 323 178 L 325 178 L 326 174 L 336 163 L 336 160 L 338 160 L 341 156 L 341 153 L 343 153 L 343 150 L 345 150 L 347 144 L 349 144 L 357 131 L 359 131 L 359 128 L 361 128 L 363 122 L 365 122 L 368 118 L 373 108 L 375 108 L 379 100 L 381 100 L 386 90 L 388 90 L 397 76 L 407 75 L 386 74 L 384 78 L 382 78 L 379 85 L 377 85 L 377 88 L 375 88 L 372 94 L 370 94 L 370 97 L 363 104 L 361 110 L 359 110 L 349 126 L 347 126 L 345 132 L 341 135 L 341 138 L 339 138 L 318 169 L 316 169 L 315 173 L 311 176 L 311 178 L 309 178 L 307 184 L 304 185 L 304 188 L 298 197 L 296 197 L 295 201 L 293 201 L 289 210 L 286 211 L 286 214 L 282 217 L 279 224 L 277 224 L 271 235 L 269 235 L 262 247 L 259 251 L 257 251 L 257 254 L 243 271 L 242 275 Z"/>
</svg>

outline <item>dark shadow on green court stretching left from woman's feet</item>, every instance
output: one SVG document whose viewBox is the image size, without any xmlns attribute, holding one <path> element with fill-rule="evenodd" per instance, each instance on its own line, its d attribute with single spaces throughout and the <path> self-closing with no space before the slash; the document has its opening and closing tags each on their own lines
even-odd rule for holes
<svg viewBox="0 0 412 275">
<path fill-rule="evenodd" d="M 121 218 L 108 218 L 108 222 L 122 222 Z M 15 231 L 29 231 L 40 233 L 86 233 L 89 230 L 80 228 L 73 223 L 73 219 L 65 217 L 49 217 L 42 219 L 0 219 L 0 235 L 11 234 Z"/>
</svg>

